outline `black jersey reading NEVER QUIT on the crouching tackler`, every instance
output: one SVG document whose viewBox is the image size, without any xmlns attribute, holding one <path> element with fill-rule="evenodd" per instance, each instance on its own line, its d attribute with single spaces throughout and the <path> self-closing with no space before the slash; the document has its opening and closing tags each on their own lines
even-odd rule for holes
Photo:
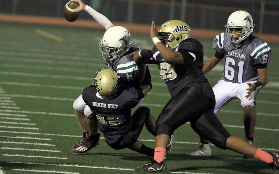
<svg viewBox="0 0 279 174">
<path fill-rule="evenodd" d="M 142 97 L 138 89 L 128 88 L 120 91 L 114 99 L 104 100 L 94 85 L 85 88 L 82 93 L 82 99 L 99 121 L 99 129 L 108 135 L 124 134 L 132 127 L 131 108 L 134 108 Z"/>
</svg>

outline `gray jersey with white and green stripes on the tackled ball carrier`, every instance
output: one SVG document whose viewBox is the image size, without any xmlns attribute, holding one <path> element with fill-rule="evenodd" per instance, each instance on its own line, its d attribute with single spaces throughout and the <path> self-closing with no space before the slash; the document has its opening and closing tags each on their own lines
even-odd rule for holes
<svg viewBox="0 0 279 174">
<path fill-rule="evenodd" d="M 147 69 L 146 64 L 136 64 L 133 55 L 140 50 L 133 42 L 130 50 L 121 58 L 108 62 L 108 68 L 117 71 L 120 76 L 121 85 L 125 88 L 139 86 L 144 78 Z"/>
</svg>

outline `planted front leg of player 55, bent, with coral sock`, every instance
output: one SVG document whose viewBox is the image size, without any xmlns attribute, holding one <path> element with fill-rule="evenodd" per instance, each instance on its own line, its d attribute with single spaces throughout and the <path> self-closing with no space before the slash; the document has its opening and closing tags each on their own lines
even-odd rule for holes
<svg viewBox="0 0 279 174">
<path fill-rule="evenodd" d="M 198 90 L 194 87 L 183 89 L 177 96 L 170 99 L 156 122 L 154 160 L 147 165 L 135 168 L 136 171 L 167 171 L 164 155 L 171 132 L 198 115 L 202 115 L 207 110 L 207 106 L 202 108 L 201 105 L 207 104 L 214 108 L 215 102 L 211 103 L 211 106 L 206 101 L 207 99 L 203 99 L 203 96 L 198 95 Z"/>
</svg>

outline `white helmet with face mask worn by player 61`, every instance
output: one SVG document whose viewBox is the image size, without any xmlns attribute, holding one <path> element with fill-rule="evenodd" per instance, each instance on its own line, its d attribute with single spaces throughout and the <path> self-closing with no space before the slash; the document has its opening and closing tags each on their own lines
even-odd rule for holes
<svg viewBox="0 0 279 174">
<path fill-rule="evenodd" d="M 246 40 L 253 32 L 254 24 L 253 19 L 248 12 L 239 10 L 229 16 L 225 27 L 228 39 L 237 46 L 240 46 L 240 42 Z M 242 30 L 239 31 L 239 29 Z M 236 32 L 232 33 L 233 30 Z"/>
</svg>

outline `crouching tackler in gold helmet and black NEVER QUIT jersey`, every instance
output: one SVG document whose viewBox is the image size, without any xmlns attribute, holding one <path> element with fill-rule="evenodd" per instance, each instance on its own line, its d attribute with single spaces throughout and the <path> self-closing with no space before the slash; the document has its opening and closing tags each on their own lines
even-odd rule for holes
<svg viewBox="0 0 279 174">
<path fill-rule="evenodd" d="M 136 152 L 154 155 L 154 149 L 148 148 L 137 139 L 143 125 L 155 136 L 155 118 L 147 107 L 139 107 L 131 116 L 134 108 L 146 94 L 140 88 L 120 89 L 120 77 L 112 69 L 102 69 L 94 77 L 94 85 L 85 88 L 82 99 L 86 103 L 84 114 L 88 119 L 98 120 L 98 127 L 104 134 L 106 143 L 113 149 L 129 148 Z M 87 151 L 100 134 L 86 136 L 72 150 Z"/>
</svg>

